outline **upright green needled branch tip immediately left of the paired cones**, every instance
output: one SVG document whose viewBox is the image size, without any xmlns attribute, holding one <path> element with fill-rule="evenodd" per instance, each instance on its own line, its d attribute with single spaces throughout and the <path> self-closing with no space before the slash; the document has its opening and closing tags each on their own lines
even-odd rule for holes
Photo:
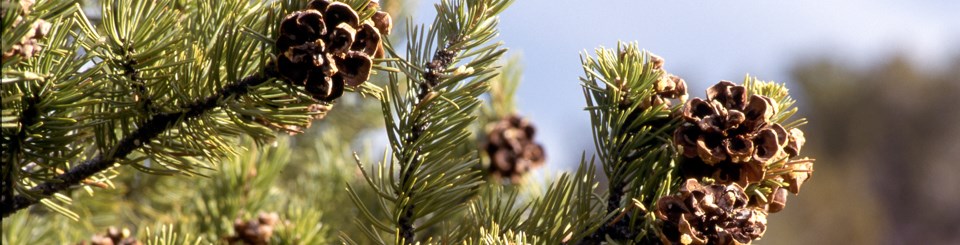
<svg viewBox="0 0 960 245">
<path fill-rule="evenodd" d="M 581 80 L 597 154 L 609 181 L 606 213 L 621 218 L 582 241 L 588 244 L 636 237 L 638 231 L 631 224 L 644 213 L 626 213 L 632 203 L 625 200 L 639 199 L 652 206 L 658 194 L 675 183 L 669 175 L 674 151 L 667 139 L 678 124 L 670 113 L 679 107 L 671 106 L 670 99 L 686 96 L 682 79 L 668 75 L 663 60 L 636 43 L 596 53 L 596 58 L 583 59 Z"/>
</svg>

